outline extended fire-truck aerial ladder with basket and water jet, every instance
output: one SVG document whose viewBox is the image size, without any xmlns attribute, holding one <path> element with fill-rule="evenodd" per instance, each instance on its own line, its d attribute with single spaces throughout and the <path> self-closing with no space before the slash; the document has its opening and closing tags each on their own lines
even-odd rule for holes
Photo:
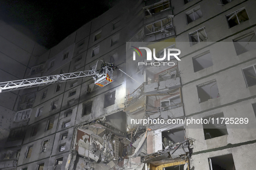
<svg viewBox="0 0 256 170">
<path fill-rule="evenodd" d="M 97 68 L 97 64 L 96 64 L 95 68 Z M 105 85 L 108 85 L 109 83 L 113 82 L 113 71 L 116 69 L 118 69 L 118 68 L 116 66 L 114 66 L 114 64 L 112 63 L 110 65 L 106 64 L 105 66 L 101 66 L 101 69 L 99 69 L 99 70 L 91 69 L 91 70 L 87 70 L 87 71 L 71 72 L 71 73 L 58 74 L 58 75 L 53 75 L 53 76 L 44 76 L 44 77 L 37 77 L 37 78 L 31 78 L 31 79 L 1 82 L 0 83 L 0 92 L 20 90 L 23 88 L 38 87 L 41 85 L 48 85 L 48 84 L 52 84 L 55 82 L 66 82 L 66 81 L 82 79 L 82 78 L 86 78 L 86 77 L 92 77 L 94 79 L 95 85 L 104 87 Z M 119 70 L 122 71 L 121 69 L 119 69 Z M 125 72 L 123 72 L 123 73 L 125 73 Z M 127 76 L 129 76 L 129 75 L 127 75 Z M 133 79 L 132 77 L 130 77 L 130 78 Z"/>
</svg>

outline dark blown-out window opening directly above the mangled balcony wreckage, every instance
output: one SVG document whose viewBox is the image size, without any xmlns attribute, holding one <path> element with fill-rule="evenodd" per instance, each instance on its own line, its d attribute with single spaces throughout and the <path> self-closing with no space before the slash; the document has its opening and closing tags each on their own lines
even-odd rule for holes
<svg viewBox="0 0 256 170">
<path fill-rule="evenodd" d="M 184 129 L 169 129 L 162 132 L 163 149 L 167 146 L 172 147 L 174 144 L 183 141 L 185 141 Z"/>
</svg>

